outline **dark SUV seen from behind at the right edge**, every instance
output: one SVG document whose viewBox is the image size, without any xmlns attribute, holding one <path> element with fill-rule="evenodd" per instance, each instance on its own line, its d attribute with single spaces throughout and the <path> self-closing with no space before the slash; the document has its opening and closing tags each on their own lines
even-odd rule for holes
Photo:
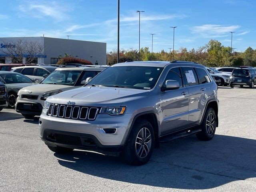
<svg viewBox="0 0 256 192">
<path fill-rule="evenodd" d="M 256 70 L 254 68 L 234 69 L 230 79 L 230 87 L 233 88 L 235 85 L 243 87 L 244 85 L 247 85 L 250 86 L 250 88 L 254 88 L 255 82 Z"/>
</svg>

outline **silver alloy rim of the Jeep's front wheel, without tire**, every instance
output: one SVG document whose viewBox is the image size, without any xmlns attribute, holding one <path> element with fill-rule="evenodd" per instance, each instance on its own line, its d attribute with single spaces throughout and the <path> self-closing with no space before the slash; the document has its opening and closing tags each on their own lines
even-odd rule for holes
<svg viewBox="0 0 256 192">
<path fill-rule="evenodd" d="M 137 155 L 140 158 L 145 158 L 151 148 L 151 134 L 148 128 L 143 127 L 137 134 L 136 141 L 135 141 L 135 148 Z"/>
</svg>

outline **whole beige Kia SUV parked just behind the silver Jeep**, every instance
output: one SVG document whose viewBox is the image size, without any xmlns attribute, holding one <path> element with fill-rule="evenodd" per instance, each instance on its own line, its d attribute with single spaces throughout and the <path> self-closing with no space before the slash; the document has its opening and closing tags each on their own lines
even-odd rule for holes
<svg viewBox="0 0 256 192">
<path fill-rule="evenodd" d="M 49 96 L 81 87 L 104 69 L 88 67 L 56 68 L 40 84 L 22 88 L 18 92 L 15 110 L 25 118 L 39 116 L 42 112 L 44 101 Z"/>
</svg>

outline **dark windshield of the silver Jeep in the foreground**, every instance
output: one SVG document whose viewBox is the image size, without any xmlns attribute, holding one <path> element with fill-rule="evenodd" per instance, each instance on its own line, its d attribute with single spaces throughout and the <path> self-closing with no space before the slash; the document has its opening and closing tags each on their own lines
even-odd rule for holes
<svg viewBox="0 0 256 192">
<path fill-rule="evenodd" d="M 109 67 L 93 78 L 87 85 L 152 89 L 163 68 L 148 66 Z"/>
</svg>

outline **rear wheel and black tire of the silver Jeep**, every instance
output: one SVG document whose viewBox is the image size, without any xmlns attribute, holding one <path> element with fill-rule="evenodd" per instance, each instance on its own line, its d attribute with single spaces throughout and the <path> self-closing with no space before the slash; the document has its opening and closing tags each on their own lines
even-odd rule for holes
<svg viewBox="0 0 256 192">
<path fill-rule="evenodd" d="M 196 134 L 196 137 L 203 141 L 211 140 L 215 134 L 216 120 L 217 118 L 213 108 L 207 108 L 200 125 L 202 131 Z"/>
</svg>

